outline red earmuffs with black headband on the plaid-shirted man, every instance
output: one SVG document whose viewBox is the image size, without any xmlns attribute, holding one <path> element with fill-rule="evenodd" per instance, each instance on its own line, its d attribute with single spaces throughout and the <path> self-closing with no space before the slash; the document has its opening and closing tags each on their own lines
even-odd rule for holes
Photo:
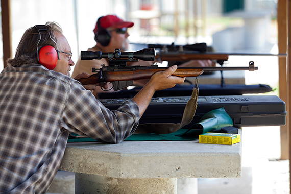
<svg viewBox="0 0 291 194">
<path fill-rule="evenodd" d="M 38 33 L 39 33 L 39 41 L 37 42 L 37 45 L 36 45 L 37 60 L 39 61 L 39 64 L 45 66 L 48 70 L 52 70 L 57 66 L 58 60 L 60 60 L 59 51 L 58 49 L 56 50 L 51 45 L 41 46 L 40 50 L 38 51 L 38 44 L 41 40 L 40 31 L 47 31 L 51 39 L 52 37 L 45 25 L 35 25 L 34 27 L 38 30 Z M 56 42 L 55 44 L 57 45 Z"/>
</svg>

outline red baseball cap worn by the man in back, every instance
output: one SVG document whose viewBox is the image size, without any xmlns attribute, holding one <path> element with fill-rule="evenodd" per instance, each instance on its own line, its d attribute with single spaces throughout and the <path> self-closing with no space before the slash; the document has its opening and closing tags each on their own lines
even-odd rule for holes
<svg viewBox="0 0 291 194">
<path fill-rule="evenodd" d="M 98 21 L 99 25 L 98 26 Z M 133 27 L 134 23 L 130 21 L 124 21 L 117 17 L 116 15 L 106 15 L 98 19 L 96 22 L 95 28 L 93 30 L 94 33 L 98 32 L 100 29 L 98 27 L 101 27 L 103 29 L 113 27 L 113 28 L 130 28 Z"/>
</svg>

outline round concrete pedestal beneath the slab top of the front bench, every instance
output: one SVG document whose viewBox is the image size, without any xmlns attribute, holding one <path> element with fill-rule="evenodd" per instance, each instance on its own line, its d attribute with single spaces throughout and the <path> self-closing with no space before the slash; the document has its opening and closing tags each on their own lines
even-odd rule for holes
<svg viewBox="0 0 291 194">
<path fill-rule="evenodd" d="M 75 192 L 88 194 L 176 194 L 177 180 L 176 178 L 120 179 L 75 173 Z"/>
</svg>

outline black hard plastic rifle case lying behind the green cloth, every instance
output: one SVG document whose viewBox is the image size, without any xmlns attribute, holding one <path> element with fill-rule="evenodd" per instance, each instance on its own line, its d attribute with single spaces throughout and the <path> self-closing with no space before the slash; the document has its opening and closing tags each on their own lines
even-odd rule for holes
<svg viewBox="0 0 291 194">
<path fill-rule="evenodd" d="M 153 98 L 139 123 L 180 123 L 190 96 Z M 116 110 L 127 99 L 100 99 L 110 110 Z M 286 124 L 286 106 L 275 95 L 199 96 L 192 122 L 199 122 L 207 112 L 224 107 L 235 127 L 283 126 Z"/>
</svg>

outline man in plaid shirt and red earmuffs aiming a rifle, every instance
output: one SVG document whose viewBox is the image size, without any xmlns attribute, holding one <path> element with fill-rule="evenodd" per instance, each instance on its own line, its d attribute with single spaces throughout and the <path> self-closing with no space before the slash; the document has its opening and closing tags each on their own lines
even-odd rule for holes
<svg viewBox="0 0 291 194">
<path fill-rule="evenodd" d="M 0 74 L 0 193 L 45 193 L 66 148 L 69 133 L 120 143 L 130 136 L 157 90 L 183 83 L 177 66 L 157 72 L 116 111 L 70 77 L 70 45 L 54 22 L 29 28 L 15 58 Z"/>
</svg>

